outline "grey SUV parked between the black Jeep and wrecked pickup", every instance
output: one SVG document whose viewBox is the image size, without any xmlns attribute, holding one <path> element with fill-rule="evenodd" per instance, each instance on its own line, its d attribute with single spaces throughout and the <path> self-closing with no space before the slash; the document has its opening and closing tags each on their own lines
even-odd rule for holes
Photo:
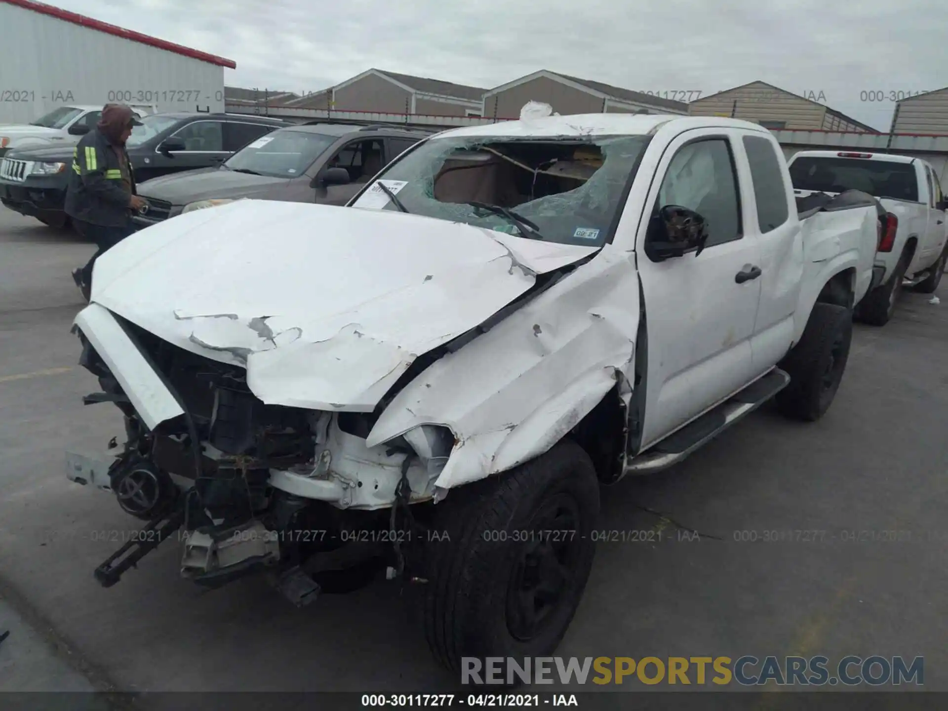
<svg viewBox="0 0 948 711">
<path fill-rule="evenodd" d="M 249 143 L 220 167 L 138 186 L 149 210 L 134 219 L 148 227 L 239 198 L 344 205 L 386 163 L 429 133 L 332 123 L 282 128 Z"/>
</svg>

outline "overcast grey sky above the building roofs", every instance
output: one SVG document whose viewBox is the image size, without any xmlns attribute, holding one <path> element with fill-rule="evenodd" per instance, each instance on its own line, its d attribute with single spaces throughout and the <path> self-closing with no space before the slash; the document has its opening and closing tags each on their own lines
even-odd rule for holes
<svg viewBox="0 0 948 711">
<path fill-rule="evenodd" d="M 701 96 L 761 80 L 887 130 L 893 92 L 948 85 L 939 0 L 47 2 L 232 59 L 228 85 L 297 93 L 373 66 L 486 88 L 542 68 Z"/>
</svg>

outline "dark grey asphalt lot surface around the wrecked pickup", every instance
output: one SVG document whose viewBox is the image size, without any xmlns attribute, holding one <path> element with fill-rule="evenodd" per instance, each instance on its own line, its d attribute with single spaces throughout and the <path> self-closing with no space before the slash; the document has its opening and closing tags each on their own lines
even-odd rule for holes
<svg viewBox="0 0 948 711">
<path fill-rule="evenodd" d="M 69 333 L 82 304 L 69 271 L 92 249 L 0 208 L 0 595 L 46 624 L 94 684 L 456 688 L 394 583 L 298 611 L 257 580 L 202 592 L 180 578 L 173 542 L 114 588 L 94 581 L 120 545 L 97 532 L 139 526 L 108 495 L 64 477 L 65 449 L 103 448 L 121 433 L 116 408 L 82 406 L 98 384 L 76 365 Z M 883 329 L 857 326 L 821 422 L 759 411 L 684 465 L 605 489 L 600 528 L 665 525 L 664 538 L 600 543 L 558 654 L 924 656 L 925 688 L 948 690 L 948 289 L 940 297 L 933 305 L 908 293 Z M 659 514 L 702 538 L 679 540 Z M 750 542 L 736 540 L 741 531 L 823 534 Z M 844 539 L 885 531 L 910 540 Z M 22 638 L 0 646 L 0 669 L 25 653 Z"/>
</svg>

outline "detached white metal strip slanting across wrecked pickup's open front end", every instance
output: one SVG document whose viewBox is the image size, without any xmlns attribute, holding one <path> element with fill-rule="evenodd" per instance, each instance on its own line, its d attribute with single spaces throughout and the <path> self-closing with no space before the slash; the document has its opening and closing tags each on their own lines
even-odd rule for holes
<svg viewBox="0 0 948 711">
<path fill-rule="evenodd" d="M 184 413 L 172 392 L 107 309 L 91 303 L 79 312 L 74 323 L 115 374 L 122 392 L 128 395 L 149 428 L 154 429 Z"/>
</svg>

